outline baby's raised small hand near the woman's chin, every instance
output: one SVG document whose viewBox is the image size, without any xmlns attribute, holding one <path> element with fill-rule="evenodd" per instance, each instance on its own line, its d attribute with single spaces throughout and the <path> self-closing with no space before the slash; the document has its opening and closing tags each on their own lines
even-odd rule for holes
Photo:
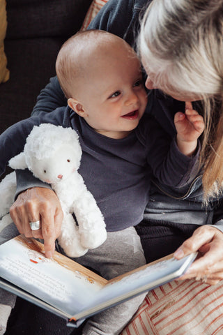
<svg viewBox="0 0 223 335">
<path fill-rule="evenodd" d="M 192 103 L 185 103 L 185 114 L 177 112 L 174 117 L 178 149 L 186 156 L 191 156 L 197 148 L 197 139 L 203 133 L 204 121 Z"/>
</svg>

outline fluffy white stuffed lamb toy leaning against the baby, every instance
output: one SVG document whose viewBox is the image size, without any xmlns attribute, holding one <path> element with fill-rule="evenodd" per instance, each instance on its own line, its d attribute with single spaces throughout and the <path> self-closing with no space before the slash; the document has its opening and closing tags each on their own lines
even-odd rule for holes
<svg viewBox="0 0 223 335">
<path fill-rule="evenodd" d="M 29 168 L 35 177 L 51 184 L 64 216 L 59 244 L 70 257 L 84 255 L 89 248 L 97 248 L 107 238 L 100 209 L 77 172 L 81 157 L 78 135 L 72 128 L 41 124 L 33 127 L 24 151 L 9 161 L 11 168 Z M 0 198 L 5 200 L 0 204 L 0 216 L 8 213 L 14 194 L 15 172 L 12 172 L 0 184 Z M 77 218 L 78 227 L 72 213 Z M 6 214 L 0 221 L 0 231 L 10 222 L 9 214 Z"/>
</svg>

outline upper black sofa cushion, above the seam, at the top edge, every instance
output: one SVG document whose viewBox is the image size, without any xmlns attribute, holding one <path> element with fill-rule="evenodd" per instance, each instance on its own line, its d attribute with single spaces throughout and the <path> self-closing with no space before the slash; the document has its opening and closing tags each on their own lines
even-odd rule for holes
<svg viewBox="0 0 223 335">
<path fill-rule="evenodd" d="M 92 0 L 7 0 L 7 39 L 64 36 L 82 26 Z"/>
</svg>

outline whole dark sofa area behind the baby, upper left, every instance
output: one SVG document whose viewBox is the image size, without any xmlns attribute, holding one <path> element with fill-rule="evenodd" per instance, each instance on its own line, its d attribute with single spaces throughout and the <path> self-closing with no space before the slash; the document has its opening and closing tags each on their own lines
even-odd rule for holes
<svg viewBox="0 0 223 335">
<path fill-rule="evenodd" d="M 29 117 L 40 89 L 55 75 L 61 44 L 80 29 L 91 1 L 6 1 L 10 80 L 0 84 L 0 133 Z"/>
</svg>

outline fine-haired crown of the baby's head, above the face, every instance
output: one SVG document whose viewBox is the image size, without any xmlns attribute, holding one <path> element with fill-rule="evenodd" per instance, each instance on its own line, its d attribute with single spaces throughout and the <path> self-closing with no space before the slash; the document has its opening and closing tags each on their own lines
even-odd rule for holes
<svg viewBox="0 0 223 335">
<path fill-rule="evenodd" d="M 132 47 L 114 34 L 102 30 L 81 31 L 62 45 L 56 59 L 56 75 L 66 98 L 77 98 L 86 80 L 89 81 L 89 73 L 100 76 L 112 60 L 136 57 Z"/>
</svg>

